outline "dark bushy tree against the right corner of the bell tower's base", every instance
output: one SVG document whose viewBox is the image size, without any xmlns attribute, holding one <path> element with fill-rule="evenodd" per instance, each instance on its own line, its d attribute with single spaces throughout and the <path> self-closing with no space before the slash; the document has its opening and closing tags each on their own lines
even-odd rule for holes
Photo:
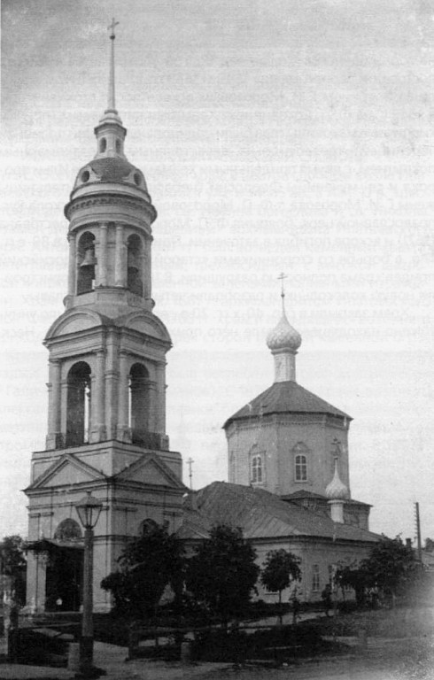
<svg viewBox="0 0 434 680">
<path fill-rule="evenodd" d="M 148 528 L 142 537 L 127 545 L 118 563 L 119 570 L 106 576 L 101 588 L 112 592 L 120 614 L 133 618 L 155 614 L 168 584 L 174 591 L 175 600 L 181 598 L 183 549 L 166 527 Z"/>
</svg>

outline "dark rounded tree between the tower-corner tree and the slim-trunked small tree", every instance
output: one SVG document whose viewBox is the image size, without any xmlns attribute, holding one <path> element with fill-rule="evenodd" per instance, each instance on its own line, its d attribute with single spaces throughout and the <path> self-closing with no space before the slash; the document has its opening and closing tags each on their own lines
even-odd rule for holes
<svg viewBox="0 0 434 680">
<path fill-rule="evenodd" d="M 255 558 L 241 529 L 223 524 L 213 527 L 187 562 L 187 590 L 226 626 L 231 617 L 243 614 L 256 591 L 260 568 Z"/>
</svg>

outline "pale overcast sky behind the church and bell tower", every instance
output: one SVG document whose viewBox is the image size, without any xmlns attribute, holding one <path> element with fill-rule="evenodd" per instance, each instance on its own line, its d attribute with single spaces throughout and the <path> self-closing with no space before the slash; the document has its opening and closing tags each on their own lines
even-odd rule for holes
<svg viewBox="0 0 434 680">
<path fill-rule="evenodd" d="M 221 425 L 273 382 L 283 271 L 298 382 L 354 418 L 353 498 L 403 537 L 419 501 L 434 537 L 432 0 L 3 0 L 0 536 L 27 533 L 113 15 L 126 153 L 159 211 L 171 448 L 196 488 L 227 479 Z"/>
</svg>

